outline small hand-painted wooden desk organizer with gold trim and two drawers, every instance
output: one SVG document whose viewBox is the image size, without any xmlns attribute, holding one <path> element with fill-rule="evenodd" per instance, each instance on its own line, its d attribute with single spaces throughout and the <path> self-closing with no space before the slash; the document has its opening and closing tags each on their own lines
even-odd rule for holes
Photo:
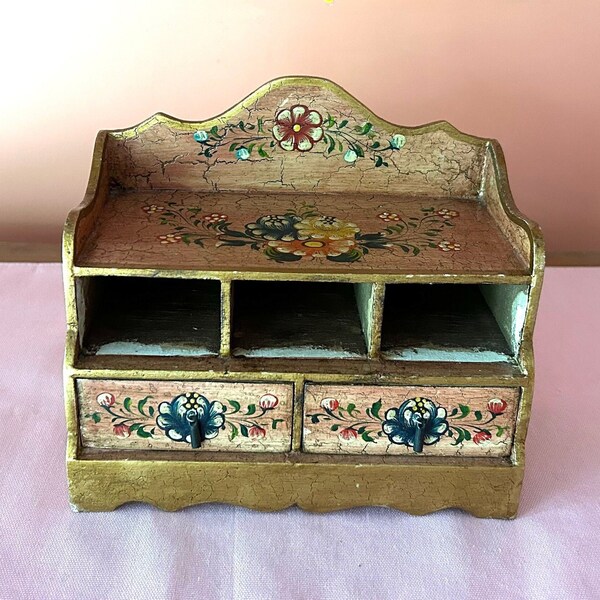
<svg viewBox="0 0 600 600">
<path fill-rule="evenodd" d="M 73 507 L 513 517 L 543 260 L 497 142 L 326 80 L 100 132 L 64 236 Z"/>
</svg>

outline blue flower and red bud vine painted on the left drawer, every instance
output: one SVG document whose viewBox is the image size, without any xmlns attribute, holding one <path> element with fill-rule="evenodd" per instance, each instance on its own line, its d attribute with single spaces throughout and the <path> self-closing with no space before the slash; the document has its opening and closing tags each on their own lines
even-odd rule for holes
<svg viewBox="0 0 600 600">
<path fill-rule="evenodd" d="M 210 400 L 197 391 L 178 394 L 158 405 L 152 396 L 137 401 L 127 396 L 120 401 L 111 392 L 99 394 L 96 402 L 101 410 L 87 417 L 94 424 L 110 419 L 112 434 L 119 438 L 166 436 L 174 442 L 192 444 L 191 422 L 197 422 L 202 440 L 214 439 L 225 431 L 230 441 L 238 436 L 260 440 L 284 422 L 276 418 L 279 398 L 271 393 L 245 406 L 233 399 Z"/>
</svg>

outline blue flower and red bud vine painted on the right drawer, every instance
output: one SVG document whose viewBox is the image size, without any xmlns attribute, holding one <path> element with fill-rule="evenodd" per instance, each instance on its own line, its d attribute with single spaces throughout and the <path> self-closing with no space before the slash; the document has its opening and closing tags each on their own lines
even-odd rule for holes
<svg viewBox="0 0 600 600">
<path fill-rule="evenodd" d="M 311 423 L 330 422 L 329 429 L 338 432 L 344 442 L 360 437 L 364 442 L 376 443 L 387 437 L 392 444 L 422 452 L 424 445 L 437 444 L 444 435 L 453 438 L 453 446 L 464 442 L 485 444 L 493 437 L 492 428 L 496 430 L 496 437 L 502 437 L 506 427 L 492 422 L 504 414 L 508 404 L 506 400 L 492 398 L 487 403 L 487 415 L 479 410 L 471 411 L 471 407 L 465 404 L 459 404 L 448 414 L 444 407 L 421 397 L 405 400 L 398 408 L 388 409 L 384 416 L 381 416 L 381 399 L 365 409 L 364 415 L 354 403 L 342 406 L 336 398 L 324 398 L 320 406 L 324 412 L 306 416 Z"/>
</svg>

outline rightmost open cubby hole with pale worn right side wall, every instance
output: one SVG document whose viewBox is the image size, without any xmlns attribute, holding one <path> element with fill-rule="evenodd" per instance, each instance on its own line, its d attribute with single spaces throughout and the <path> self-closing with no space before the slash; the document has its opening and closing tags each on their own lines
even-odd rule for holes
<svg viewBox="0 0 600 600">
<path fill-rule="evenodd" d="M 387 285 L 381 352 L 386 359 L 513 362 L 527 286 Z"/>
</svg>

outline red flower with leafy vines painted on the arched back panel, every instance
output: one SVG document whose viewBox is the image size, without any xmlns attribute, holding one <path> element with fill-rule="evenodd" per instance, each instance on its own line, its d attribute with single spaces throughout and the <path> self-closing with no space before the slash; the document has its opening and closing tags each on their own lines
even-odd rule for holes
<svg viewBox="0 0 600 600">
<path fill-rule="evenodd" d="M 206 158 L 225 143 L 229 143 L 229 152 L 238 161 L 253 159 L 254 155 L 256 160 L 272 159 L 271 154 L 278 148 L 310 152 L 318 145 L 324 155 L 337 154 L 348 164 L 368 156 L 375 167 L 388 167 L 392 154 L 406 144 L 401 133 L 384 139 L 369 121 L 352 125 L 348 119 L 338 120 L 330 114 L 323 118 L 319 111 L 304 104 L 283 108 L 273 119 L 214 125 L 194 132 L 193 137 L 201 147 L 198 154 Z"/>
</svg>

